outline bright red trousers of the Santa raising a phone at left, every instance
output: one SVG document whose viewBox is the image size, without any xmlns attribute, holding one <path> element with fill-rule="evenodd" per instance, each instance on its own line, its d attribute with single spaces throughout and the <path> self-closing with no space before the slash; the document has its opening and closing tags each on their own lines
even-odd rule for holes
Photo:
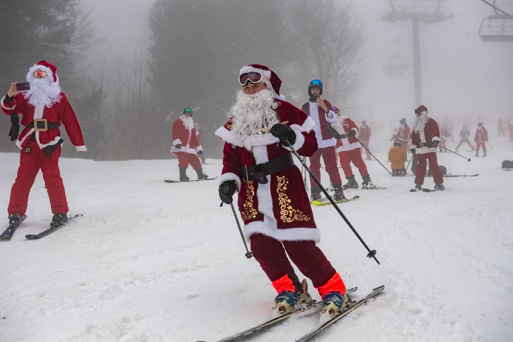
<svg viewBox="0 0 513 342">
<path fill-rule="evenodd" d="M 40 169 L 43 172 L 52 213 L 62 214 L 69 211 L 58 164 L 60 156 L 60 146 L 52 154 L 44 155 L 37 142 L 33 139 L 29 140 L 19 158 L 18 174 L 11 189 L 11 199 L 7 208 L 9 215 L 26 213 L 30 189 Z"/>
</svg>

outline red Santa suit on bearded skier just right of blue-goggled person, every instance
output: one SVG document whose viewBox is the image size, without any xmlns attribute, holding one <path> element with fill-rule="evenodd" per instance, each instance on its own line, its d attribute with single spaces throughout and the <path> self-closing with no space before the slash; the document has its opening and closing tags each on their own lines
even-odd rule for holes
<svg viewBox="0 0 513 342">
<path fill-rule="evenodd" d="M 349 133 L 351 130 L 354 131 L 355 134 L 358 134 L 358 126 L 347 116 L 339 116 L 331 126 L 336 129 L 340 135 Z M 361 146 L 356 136 L 350 136 L 348 138 L 343 137 L 337 140 L 336 151 L 339 154 L 340 166 L 346 178 L 353 176 L 351 162 L 358 168 L 362 177 L 369 175 L 367 166 L 362 159 L 360 149 Z"/>
</svg>

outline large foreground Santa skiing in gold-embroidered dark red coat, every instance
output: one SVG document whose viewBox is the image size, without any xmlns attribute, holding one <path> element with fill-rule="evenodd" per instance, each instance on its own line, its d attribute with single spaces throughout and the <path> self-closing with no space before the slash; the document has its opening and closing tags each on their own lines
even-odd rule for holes
<svg viewBox="0 0 513 342">
<path fill-rule="evenodd" d="M 315 225 L 301 172 L 285 139 L 303 156 L 317 151 L 315 122 L 298 108 L 277 99 L 281 80 L 262 65 L 241 69 L 228 122 L 215 134 L 224 140 L 219 195 L 226 204 L 239 191 L 244 236 L 278 295 L 275 310 L 287 312 L 300 303 L 302 291 L 286 253 L 311 279 L 323 299 L 323 312 L 347 306 L 345 285 L 315 246 Z M 317 109 L 317 106 L 316 106 Z M 326 111 L 325 111 L 326 112 Z"/>
</svg>

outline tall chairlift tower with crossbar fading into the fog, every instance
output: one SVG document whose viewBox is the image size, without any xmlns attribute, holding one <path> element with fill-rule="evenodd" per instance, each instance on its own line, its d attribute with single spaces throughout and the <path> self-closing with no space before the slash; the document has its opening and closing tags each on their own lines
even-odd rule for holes
<svg viewBox="0 0 513 342">
<path fill-rule="evenodd" d="M 415 104 L 422 104 L 421 64 L 420 64 L 420 23 L 436 24 L 452 18 L 442 11 L 445 0 L 388 0 L 391 12 L 385 14 L 382 20 L 387 23 L 397 23 L 411 20 L 413 43 L 413 81 L 415 83 Z"/>
</svg>

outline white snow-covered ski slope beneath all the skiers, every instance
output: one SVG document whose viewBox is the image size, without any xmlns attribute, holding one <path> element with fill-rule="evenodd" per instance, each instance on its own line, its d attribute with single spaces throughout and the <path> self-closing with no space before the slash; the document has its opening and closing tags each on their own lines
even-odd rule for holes
<svg viewBox="0 0 513 342">
<path fill-rule="evenodd" d="M 314 340 L 513 340 L 513 173 L 500 169 L 513 153 L 489 153 L 471 163 L 439 153 L 450 173 L 480 175 L 445 178 L 446 190 L 434 193 L 410 193 L 411 174 L 392 178 L 367 162 L 374 183 L 389 189 L 351 192 L 361 198 L 340 207 L 381 265 L 336 211 L 313 208 L 320 247 L 346 286 L 359 288 L 353 299 L 385 285 Z M 18 158 L 0 154 L 0 208 Z M 204 170 L 219 175 L 220 160 Z M 217 180 L 165 184 L 178 177 L 176 160 L 63 158 L 61 172 L 70 213 L 84 217 L 25 240 L 52 215 L 38 175 L 28 219 L 0 242 L 0 341 L 215 341 L 270 317 L 274 289 L 244 257 L 231 210 L 219 208 Z M 318 315 L 291 318 L 249 340 L 293 341 L 317 322 Z"/>
</svg>

